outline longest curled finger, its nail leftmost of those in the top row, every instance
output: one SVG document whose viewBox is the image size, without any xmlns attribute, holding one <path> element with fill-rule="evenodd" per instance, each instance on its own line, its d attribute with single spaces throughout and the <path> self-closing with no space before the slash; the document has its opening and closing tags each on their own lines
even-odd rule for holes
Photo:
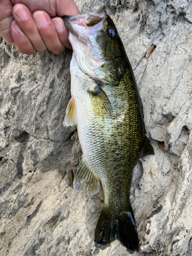
<svg viewBox="0 0 192 256">
<path fill-rule="evenodd" d="M 13 17 L 17 25 L 31 41 L 33 48 L 39 52 L 46 51 L 47 47 L 38 32 L 30 10 L 23 4 L 17 4 L 13 7 Z"/>
</svg>

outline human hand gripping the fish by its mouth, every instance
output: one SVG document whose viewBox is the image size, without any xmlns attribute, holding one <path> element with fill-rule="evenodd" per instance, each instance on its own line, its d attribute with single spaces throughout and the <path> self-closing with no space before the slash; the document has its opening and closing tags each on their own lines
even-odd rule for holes
<svg viewBox="0 0 192 256">
<path fill-rule="evenodd" d="M 60 17 L 80 14 L 73 0 L 0 0 L 0 10 L 0 35 L 20 53 L 72 49 Z"/>
</svg>

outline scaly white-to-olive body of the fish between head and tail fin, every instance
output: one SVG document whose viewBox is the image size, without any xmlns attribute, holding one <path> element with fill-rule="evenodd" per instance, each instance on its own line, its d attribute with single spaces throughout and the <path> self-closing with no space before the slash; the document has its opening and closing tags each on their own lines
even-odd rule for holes
<svg viewBox="0 0 192 256">
<path fill-rule="evenodd" d="M 117 211 L 127 210 L 127 206 L 130 204 L 129 193 L 132 169 L 141 154 L 144 143 L 142 118 L 138 114 L 140 108 L 139 99 L 135 91 L 134 82 L 130 82 L 130 76 L 131 73 L 127 69 L 118 87 L 106 86 L 103 88 L 112 104 L 112 118 L 105 118 L 103 120 L 103 117 L 94 114 L 90 95 L 87 95 L 87 98 L 83 96 L 82 106 L 82 99 L 78 97 L 80 99 L 78 101 L 75 93 L 73 93 L 76 99 L 78 118 L 80 118 L 77 125 L 84 157 L 90 164 L 92 172 L 101 181 L 105 195 L 105 204 L 109 205 L 111 209 L 115 208 Z M 84 80 L 82 79 L 81 83 L 78 82 L 78 91 L 81 88 L 86 91 L 87 86 L 85 84 L 87 84 L 87 77 Z M 124 111 L 122 108 L 119 109 L 118 102 L 114 101 L 114 98 L 118 99 L 118 93 L 120 92 L 121 94 L 122 90 L 124 92 L 123 101 L 129 104 L 130 111 L 125 114 L 123 121 L 114 123 L 114 120 L 119 117 L 119 113 Z M 87 118 L 88 114 L 90 119 Z M 103 125 L 103 122 L 108 123 L 108 125 Z M 109 134 L 108 130 L 113 130 L 112 134 Z M 123 148 L 124 150 L 122 150 Z M 96 159 L 98 161 L 95 161 Z M 127 177 L 124 182 L 122 179 L 118 182 L 118 190 L 121 194 L 121 203 L 119 204 L 114 204 L 117 181 L 111 178 L 111 173 L 114 176 L 126 175 Z M 120 189 L 120 187 L 122 188 Z"/>
</svg>

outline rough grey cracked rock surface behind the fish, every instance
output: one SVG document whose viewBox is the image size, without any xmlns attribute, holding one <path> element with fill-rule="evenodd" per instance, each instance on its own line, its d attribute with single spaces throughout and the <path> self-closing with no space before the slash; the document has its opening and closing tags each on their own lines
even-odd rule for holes
<svg viewBox="0 0 192 256">
<path fill-rule="evenodd" d="M 192 255 L 191 1 L 76 3 L 81 13 L 105 4 L 113 18 L 155 149 L 134 169 L 140 252 L 133 255 Z M 118 241 L 95 247 L 102 188 L 83 197 L 68 180 L 81 157 L 76 127 L 62 126 L 72 52 L 26 56 L 2 39 L 0 47 L 0 255 L 129 255 Z"/>
</svg>

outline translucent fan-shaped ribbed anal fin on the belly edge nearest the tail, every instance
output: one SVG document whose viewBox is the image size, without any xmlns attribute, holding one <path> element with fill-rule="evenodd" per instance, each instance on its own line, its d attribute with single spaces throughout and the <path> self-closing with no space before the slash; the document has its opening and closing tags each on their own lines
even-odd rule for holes
<svg viewBox="0 0 192 256">
<path fill-rule="evenodd" d="M 82 156 L 77 167 L 73 187 L 81 195 L 94 195 L 99 192 L 99 179 L 92 173 L 88 163 Z"/>
</svg>

